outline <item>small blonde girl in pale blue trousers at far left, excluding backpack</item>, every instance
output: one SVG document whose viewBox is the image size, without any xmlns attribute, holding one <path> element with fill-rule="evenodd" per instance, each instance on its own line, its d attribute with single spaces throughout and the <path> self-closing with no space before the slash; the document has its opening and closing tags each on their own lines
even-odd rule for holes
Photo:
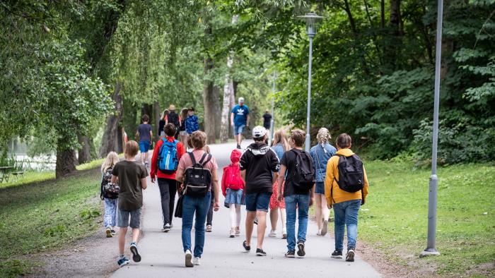
<svg viewBox="0 0 495 278">
<path fill-rule="evenodd" d="M 107 238 L 111 238 L 117 234 L 115 232 L 115 226 L 117 226 L 117 203 L 118 198 L 109 199 L 103 197 L 103 186 L 110 182 L 112 179 L 112 171 L 115 164 L 119 162 L 119 156 L 117 152 L 109 152 L 105 158 L 105 162 L 101 165 L 101 198 L 105 202 L 105 234 Z"/>
</svg>

